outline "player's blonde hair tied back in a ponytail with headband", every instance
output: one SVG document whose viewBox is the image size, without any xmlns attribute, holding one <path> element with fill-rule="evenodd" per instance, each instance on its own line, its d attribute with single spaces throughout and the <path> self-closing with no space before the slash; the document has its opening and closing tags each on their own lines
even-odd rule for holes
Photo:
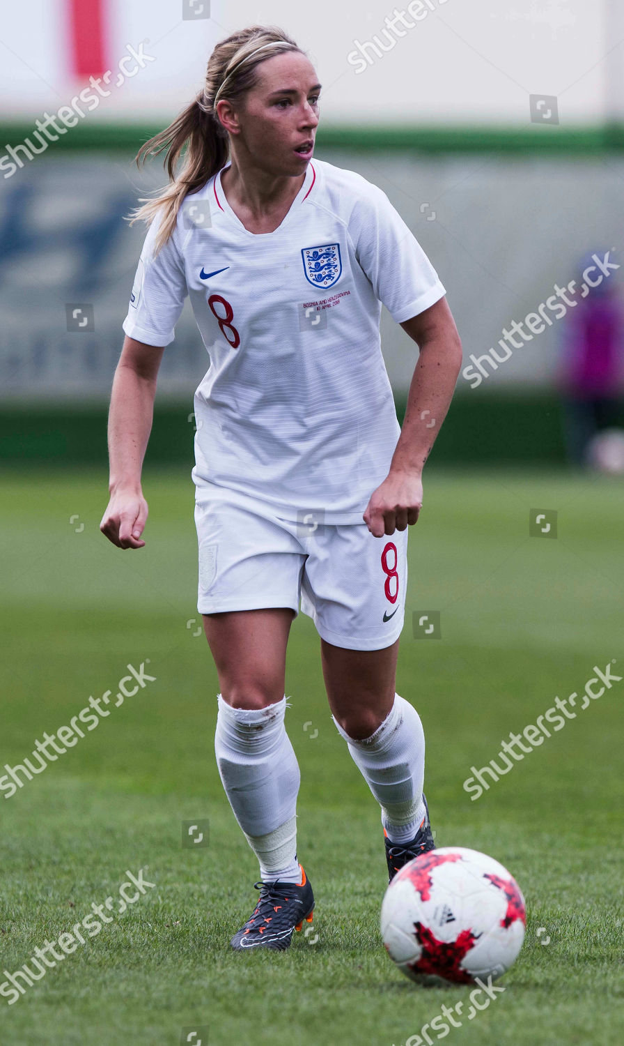
<svg viewBox="0 0 624 1046">
<path fill-rule="evenodd" d="M 155 253 L 169 240 L 185 197 L 205 185 L 229 159 L 228 133 L 216 115 L 215 103 L 239 99 L 255 86 L 258 66 L 284 51 L 304 53 L 283 29 L 273 25 L 252 25 L 222 40 L 208 60 L 202 90 L 168 128 L 141 145 L 137 166 L 164 152 L 163 166 L 169 176 L 156 197 L 139 199 L 142 206 L 131 211 L 129 219 L 131 225 L 138 221 L 149 225 L 162 211 Z"/>
</svg>

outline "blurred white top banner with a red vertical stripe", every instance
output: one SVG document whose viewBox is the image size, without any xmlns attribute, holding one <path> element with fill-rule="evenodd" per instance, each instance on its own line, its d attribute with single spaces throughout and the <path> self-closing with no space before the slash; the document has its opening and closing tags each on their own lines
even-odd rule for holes
<svg viewBox="0 0 624 1046">
<path fill-rule="evenodd" d="M 567 123 L 604 116 L 621 82 L 620 0 L 28 0 L 2 10 L 0 117 L 70 105 L 89 77 L 90 121 L 159 119 L 203 83 L 215 43 L 256 23 L 309 51 L 324 118 L 349 123 L 529 122 L 530 94 L 558 97 Z M 619 35 L 618 35 L 619 33 Z M 133 54 L 143 60 L 134 61 Z M 108 93 L 105 93 L 108 92 Z M 91 103 L 89 103 L 91 105 Z M 620 116 L 624 100 L 620 97 Z M 611 113 L 613 115 L 613 113 Z"/>
</svg>

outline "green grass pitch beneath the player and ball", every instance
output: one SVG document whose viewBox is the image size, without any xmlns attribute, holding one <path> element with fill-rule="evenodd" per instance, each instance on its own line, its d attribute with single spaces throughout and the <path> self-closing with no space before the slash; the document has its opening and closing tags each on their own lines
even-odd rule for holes
<svg viewBox="0 0 624 1046">
<path fill-rule="evenodd" d="M 469 990 L 418 987 L 382 947 L 379 811 L 330 720 L 303 615 L 288 647 L 286 728 L 314 933 L 285 953 L 229 948 L 258 871 L 214 764 L 216 673 L 194 635 L 193 487 L 189 474 L 154 472 L 144 492 L 146 547 L 122 552 L 98 530 L 103 471 L 2 478 L 0 766 L 21 763 L 90 696 L 115 695 L 126 664 L 156 677 L 0 794 L 0 971 L 70 932 L 126 869 L 155 884 L 14 1005 L 0 996 L 2 1046 L 174 1046 L 195 1026 L 211 1046 L 402 1046 Z M 535 507 L 558 511 L 556 540 L 529 537 Z M 582 691 L 594 665 L 624 668 L 623 520 L 617 480 L 435 465 L 425 478 L 397 689 L 424 723 L 438 845 L 495 857 L 528 905 L 505 992 L 449 1043 L 622 1041 L 624 681 L 478 801 L 462 782 L 556 696 Z M 413 612 L 431 610 L 442 638 L 415 640 Z M 182 822 L 195 819 L 209 820 L 208 845 L 183 848 Z"/>
</svg>

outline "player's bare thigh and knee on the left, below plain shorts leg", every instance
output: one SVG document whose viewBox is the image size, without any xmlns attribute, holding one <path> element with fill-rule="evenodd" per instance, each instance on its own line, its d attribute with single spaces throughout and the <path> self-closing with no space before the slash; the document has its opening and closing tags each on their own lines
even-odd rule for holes
<svg viewBox="0 0 624 1046">
<path fill-rule="evenodd" d="M 265 708 L 284 696 L 290 607 L 203 614 L 224 700 L 232 708 Z"/>
</svg>

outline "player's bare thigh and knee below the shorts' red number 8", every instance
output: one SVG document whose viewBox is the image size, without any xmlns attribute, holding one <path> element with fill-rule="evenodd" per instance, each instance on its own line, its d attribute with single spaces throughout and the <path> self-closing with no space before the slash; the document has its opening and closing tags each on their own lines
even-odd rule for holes
<svg viewBox="0 0 624 1046">
<path fill-rule="evenodd" d="M 321 639 L 329 707 L 353 740 L 370 737 L 390 714 L 396 686 L 397 639 L 378 651 L 350 651 Z"/>
</svg>

